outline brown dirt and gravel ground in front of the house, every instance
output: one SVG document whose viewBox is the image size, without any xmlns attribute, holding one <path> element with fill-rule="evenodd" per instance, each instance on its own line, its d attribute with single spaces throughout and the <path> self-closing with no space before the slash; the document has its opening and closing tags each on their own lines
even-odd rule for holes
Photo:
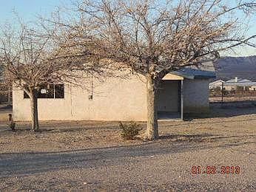
<svg viewBox="0 0 256 192">
<path fill-rule="evenodd" d="M 35 134 L 2 121 L 0 191 L 255 191 L 255 125 L 256 108 L 212 109 L 161 121 L 160 139 L 143 142 L 122 140 L 117 122 L 41 122 Z"/>
</svg>

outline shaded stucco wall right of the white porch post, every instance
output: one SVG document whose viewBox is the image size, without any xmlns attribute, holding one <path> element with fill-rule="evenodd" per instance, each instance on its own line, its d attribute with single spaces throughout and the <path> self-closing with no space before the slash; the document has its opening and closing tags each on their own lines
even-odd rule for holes
<svg viewBox="0 0 256 192">
<path fill-rule="evenodd" d="M 183 81 L 183 112 L 209 112 L 209 80 Z"/>
</svg>

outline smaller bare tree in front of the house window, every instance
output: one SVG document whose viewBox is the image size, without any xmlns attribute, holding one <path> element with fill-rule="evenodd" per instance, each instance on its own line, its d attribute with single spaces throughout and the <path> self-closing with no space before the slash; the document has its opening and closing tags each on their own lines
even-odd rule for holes
<svg viewBox="0 0 256 192">
<path fill-rule="evenodd" d="M 67 31 L 56 27 L 5 26 L 0 37 L 0 64 L 5 84 L 30 97 L 32 130 L 38 131 L 38 91 L 46 85 L 74 83 L 77 78 L 101 74 L 87 48 L 73 46 Z M 61 38 L 56 38 L 60 37 Z M 92 48 L 91 48 L 92 49 Z"/>
</svg>

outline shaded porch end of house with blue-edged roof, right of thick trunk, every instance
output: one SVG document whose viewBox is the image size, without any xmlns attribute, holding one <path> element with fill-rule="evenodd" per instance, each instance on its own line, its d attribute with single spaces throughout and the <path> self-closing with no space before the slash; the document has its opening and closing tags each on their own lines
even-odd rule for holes
<svg viewBox="0 0 256 192">
<path fill-rule="evenodd" d="M 185 113 L 209 110 L 210 68 L 184 68 L 164 76 L 158 90 L 158 120 L 183 120 Z"/>
</svg>

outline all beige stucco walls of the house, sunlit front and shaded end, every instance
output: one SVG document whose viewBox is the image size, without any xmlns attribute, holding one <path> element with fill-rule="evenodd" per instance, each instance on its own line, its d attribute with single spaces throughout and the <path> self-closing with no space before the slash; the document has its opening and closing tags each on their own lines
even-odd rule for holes
<svg viewBox="0 0 256 192">
<path fill-rule="evenodd" d="M 159 111 L 178 112 L 178 81 L 168 80 L 160 98 Z M 144 77 L 108 78 L 93 84 L 92 90 L 64 85 L 64 99 L 38 99 L 39 120 L 146 120 L 146 83 Z M 183 80 L 183 112 L 209 109 L 209 81 Z M 13 89 L 14 120 L 30 120 L 30 100 L 23 91 Z"/>
</svg>

